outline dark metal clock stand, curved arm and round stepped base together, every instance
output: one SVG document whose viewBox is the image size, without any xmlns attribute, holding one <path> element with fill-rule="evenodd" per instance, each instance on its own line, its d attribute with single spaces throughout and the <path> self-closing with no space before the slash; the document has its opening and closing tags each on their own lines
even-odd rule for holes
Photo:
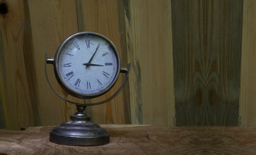
<svg viewBox="0 0 256 155">
<path fill-rule="evenodd" d="M 75 103 L 70 101 L 58 94 L 55 89 L 52 87 L 49 78 L 47 76 L 47 67 L 46 64 L 52 64 L 53 58 L 47 58 L 47 53 L 45 54 L 45 76 L 49 86 L 57 94 L 58 97 L 64 99 L 69 103 L 72 103 L 77 106 L 77 112 L 70 116 L 70 121 L 58 125 L 50 132 L 49 141 L 53 143 L 58 143 L 62 145 L 78 145 L 78 146 L 96 146 L 96 145 L 105 145 L 109 143 L 110 136 L 109 132 L 104 128 L 100 127 L 96 123 L 90 121 L 90 117 L 84 113 L 84 110 L 87 106 L 100 105 L 114 99 L 125 86 L 126 81 L 129 77 L 129 72 L 131 64 L 127 68 L 121 67 L 120 72 L 125 73 L 125 78 L 120 88 L 112 95 L 110 98 L 105 99 L 104 101 L 99 101 L 97 103 Z"/>
</svg>

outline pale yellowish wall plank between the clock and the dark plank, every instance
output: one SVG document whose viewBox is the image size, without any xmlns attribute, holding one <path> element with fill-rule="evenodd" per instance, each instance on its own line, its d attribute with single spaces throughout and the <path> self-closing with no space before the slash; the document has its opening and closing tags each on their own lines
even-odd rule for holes
<svg viewBox="0 0 256 155">
<path fill-rule="evenodd" d="M 125 1 L 132 123 L 174 125 L 170 1 Z"/>
</svg>

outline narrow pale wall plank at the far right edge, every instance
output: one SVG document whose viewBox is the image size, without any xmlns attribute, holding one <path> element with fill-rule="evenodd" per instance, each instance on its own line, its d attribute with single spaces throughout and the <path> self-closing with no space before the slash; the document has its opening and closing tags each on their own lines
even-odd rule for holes
<svg viewBox="0 0 256 155">
<path fill-rule="evenodd" d="M 256 1 L 244 0 L 239 125 L 256 125 Z"/>
</svg>

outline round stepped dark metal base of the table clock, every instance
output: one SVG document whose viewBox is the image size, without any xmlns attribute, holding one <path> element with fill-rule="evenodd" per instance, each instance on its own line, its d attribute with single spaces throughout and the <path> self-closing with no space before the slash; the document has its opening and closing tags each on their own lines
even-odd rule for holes
<svg viewBox="0 0 256 155">
<path fill-rule="evenodd" d="M 62 123 L 50 132 L 50 141 L 63 145 L 105 145 L 109 143 L 109 133 L 83 112 L 70 116 L 70 121 Z"/>
</svg>

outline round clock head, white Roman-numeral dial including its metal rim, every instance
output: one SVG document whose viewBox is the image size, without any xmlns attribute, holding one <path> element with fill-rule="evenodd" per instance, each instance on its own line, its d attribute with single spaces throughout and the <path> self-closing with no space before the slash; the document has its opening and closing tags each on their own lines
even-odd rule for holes
<svg viewBox="0 0 256 155">
<path fill-rule="evenodd" d="M 107 92 L 118 79 L 120 57 L 107 37 L 79 32 L 68 37 L 55 55 L 55 75 L 60 85 L 79 98 Z"/>
</svg>

